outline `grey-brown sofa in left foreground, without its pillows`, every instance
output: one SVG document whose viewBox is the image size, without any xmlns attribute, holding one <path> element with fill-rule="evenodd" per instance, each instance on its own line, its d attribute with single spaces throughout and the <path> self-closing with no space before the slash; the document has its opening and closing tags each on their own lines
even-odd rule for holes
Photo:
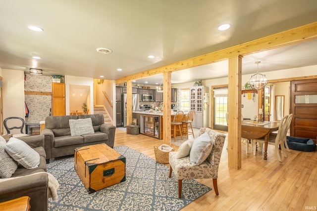
<svg viewBox="0 0 317 211">
<path fill-rule="evenodd" d="M 0 181 L 0 202 L 29 196 L 32 211 L 47 211 L 49 199 L 49 178 L 46 172 L 46 154 L 44 150 L 44 135 L 19 137 L 40 155 L 40 164 L 35 169 L 25 169 L 21 165 L 9 180 Z M 33 174 L 37 173 L 37 174 Z M 30 175 L 32 174 L 32 175 Z M 14 178 L 16 177 L 16 178 Z M 1 210 L 1 209 L 0 209 Z"/>
</svg>

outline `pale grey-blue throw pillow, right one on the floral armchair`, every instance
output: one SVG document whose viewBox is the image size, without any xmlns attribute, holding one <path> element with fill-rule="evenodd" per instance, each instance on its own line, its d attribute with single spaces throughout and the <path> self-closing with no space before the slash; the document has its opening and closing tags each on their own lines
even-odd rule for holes
<svg viewBox="0 0 317 211">
<path fill-rule="evenodd" d="M 193 166 L 201 165 L 210 155 L 212 142 L 207 132 L 194 140 L 189 159 Z"/>
</svg>

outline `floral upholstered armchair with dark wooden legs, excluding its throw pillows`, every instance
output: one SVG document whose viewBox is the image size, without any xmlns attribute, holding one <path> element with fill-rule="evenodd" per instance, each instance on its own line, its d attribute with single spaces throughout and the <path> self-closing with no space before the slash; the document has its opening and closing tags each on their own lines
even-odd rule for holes
<svg viewBox="0 0 317 211">
<path fill-rule="evenodd" d="M 211 152 L 206 155 L 207 159 L 202 161 L 200 165 L 193 166 L 189 155 L 183 158 L 177 158 L 177 152 L 169 152 L 169 177 L 171 177 L 172 172 L 174 172 L 174 175 L 178 180 L 178 198 L 182 198 L 183 179 L 212 178 L 214 192 L 216 195 L 219 194 L 217 186 L 218 168 L 226 136 L 223 133 L 207 127 L 200 128 L 198 136 L 203 135 L 205 132 L 207 132 L 208 137 L 210 138 L 212 148 Z"/>
</svg>

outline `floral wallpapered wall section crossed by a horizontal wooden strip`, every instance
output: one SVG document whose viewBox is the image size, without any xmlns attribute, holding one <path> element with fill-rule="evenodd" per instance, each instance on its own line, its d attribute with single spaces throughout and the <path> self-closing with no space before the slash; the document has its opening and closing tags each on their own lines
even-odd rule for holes
<svg viewBox="0 0 317 211">
<path fill-rule="evenodd" d="M 51 76 L 26 75 L 24 90 L 52 92 Z M 26 123 L 39 123 L 50 116 L 51 95 L 25 95 L 25 103 L 29 109 L 29 117 L 25 118 Z"/>
</svg>

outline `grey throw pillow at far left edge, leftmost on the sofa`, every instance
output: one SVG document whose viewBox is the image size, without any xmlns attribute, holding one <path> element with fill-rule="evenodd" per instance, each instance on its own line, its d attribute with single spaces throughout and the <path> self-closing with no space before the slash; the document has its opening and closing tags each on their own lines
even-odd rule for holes
<svg viewBox="0 0 317 211">
<path fill-rule="evenodd" d="M 9 178 L 18 168 L 18 164 L 5 151 L 5 139 L 0 135 L 0 178 Z"/>
</svg>

